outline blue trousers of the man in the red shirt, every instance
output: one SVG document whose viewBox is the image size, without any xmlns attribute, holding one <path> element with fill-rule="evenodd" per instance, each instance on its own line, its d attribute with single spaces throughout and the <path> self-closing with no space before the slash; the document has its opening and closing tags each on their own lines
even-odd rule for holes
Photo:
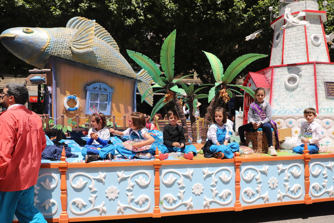
<svg viewBox="0 0 334 223">
<path fill-rule="evenodd" d="M 23 191 L 0 192 L 0 221 L 12 222 L 14 213 L 20 223 L 46 223 L 34 206 L 34 186 Z"/>
</svg>

